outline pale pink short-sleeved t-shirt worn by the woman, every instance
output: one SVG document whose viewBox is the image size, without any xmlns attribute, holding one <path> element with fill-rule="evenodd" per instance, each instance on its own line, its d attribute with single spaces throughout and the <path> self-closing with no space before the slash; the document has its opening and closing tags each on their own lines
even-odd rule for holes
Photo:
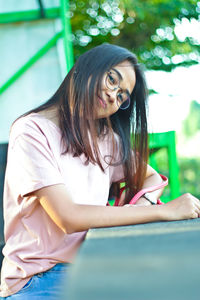
<svg viewBox="0 0 200 300">
<path fill-rule="evenodd" d="M 102 157 L 112 153 L 109 136 L 99 140 L 99 147 Z M 98 165 L 85 165 L 84 155 L 61 155 L 63 150 L 60 129 L 40 114 L 23 117 L 11 128 L 4 185 L 2 297 L 19 291 L 34 274 L 73 262 L 86 234 L 65 234 L 38 199 L 27 193 L 65 184 L 75 203 L 106 205 L 111 183 L 123 178 L 122 166 L 108 166 L 102 159 L 106 167 L 102 172 Z"/>
</svg>

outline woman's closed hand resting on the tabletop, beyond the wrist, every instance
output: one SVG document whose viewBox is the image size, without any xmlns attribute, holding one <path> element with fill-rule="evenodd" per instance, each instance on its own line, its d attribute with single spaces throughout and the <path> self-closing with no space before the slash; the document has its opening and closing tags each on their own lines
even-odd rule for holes
<svg viewBox="0 0 200 300">
<path fill-rule="evenodd" d="M 163 220 L 185 220 L 200 217 L 200 201 L 191 194 L 182 196 L 160 206 Z"/>
</svg>

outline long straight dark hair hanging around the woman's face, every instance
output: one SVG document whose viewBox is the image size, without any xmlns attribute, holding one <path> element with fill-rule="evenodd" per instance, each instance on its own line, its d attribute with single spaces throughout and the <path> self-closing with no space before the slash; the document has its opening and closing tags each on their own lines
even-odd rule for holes
<svg viewBox="0 0 200 300">
<path fill-rule="evenodd" d="M 123 61 L 128 61 L 136 74 L 130 107 L 126 110 L 119 109 L 109 118 L 96 120 L 95 99 L 97 91 L 101 89 L 103 75 Z M 124 203 L 128 203 L 141 189 L 146 174 L 148 159 L 146 100 L 146 83 L 136 56 L 125 48 L 102 44 L 81 55 L 56 93 L 46 103 L 23 116 L 58 106 L 59 126 L 66 149 L 64 153 L 70 151 L 74 156 L 85 154 L 86 163 L 90 161 L 98 164 L 102 171 L 104 167 L 98 139 L 107 129 L 106 133 L 109 132 L 112 136 L 114 152 L 114 149 L 116 150 L 114 136 L 117 134 L 121 160 L 115 164 L 123 164 L 124 181 L 127 185 Z M 110 164 L 112 163 L 114 164 L 111 160 Z M 113 190 L 118 194 L 119 183 L 114 186 Z"/>
</svg>

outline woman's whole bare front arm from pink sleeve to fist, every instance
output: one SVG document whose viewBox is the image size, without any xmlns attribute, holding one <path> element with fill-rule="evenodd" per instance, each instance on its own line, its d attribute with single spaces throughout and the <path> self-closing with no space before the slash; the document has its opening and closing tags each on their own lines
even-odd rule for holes
<svg viewBox="0 0 200 300">
<path fill-rule="evenodd" d="M 148 207 L 76 204 L 64 184 L 44 187 L 26 196 L 36 196 L 47 214 L 65 233 L 94 227 L 197 218 L 200 213 L 199 200 L 189 194 L 167 204 Z"/>
</svg>

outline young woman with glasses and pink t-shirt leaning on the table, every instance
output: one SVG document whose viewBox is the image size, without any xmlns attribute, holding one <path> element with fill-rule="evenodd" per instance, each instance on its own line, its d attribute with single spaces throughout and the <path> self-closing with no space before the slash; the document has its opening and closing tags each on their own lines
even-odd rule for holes
<svg viewBox="0 0 200 300">
<path fill-rule="evenodd" d="M 162 181 L 147 165 L 146 84 L 128 50 L 100 45 L 76 62 L 55 95 L 17 119 L 4 189 L 3 299 L 59 299 L 89 228 L 197 218 L 190 194 L 163 205 L 141 197 Z M 133 147 L 130 132 L 133 132 Z M 109 193 L 127 192 L 120 206 Z M 162 190 L 152 192 L 157 200 Z"/>
</svg>

